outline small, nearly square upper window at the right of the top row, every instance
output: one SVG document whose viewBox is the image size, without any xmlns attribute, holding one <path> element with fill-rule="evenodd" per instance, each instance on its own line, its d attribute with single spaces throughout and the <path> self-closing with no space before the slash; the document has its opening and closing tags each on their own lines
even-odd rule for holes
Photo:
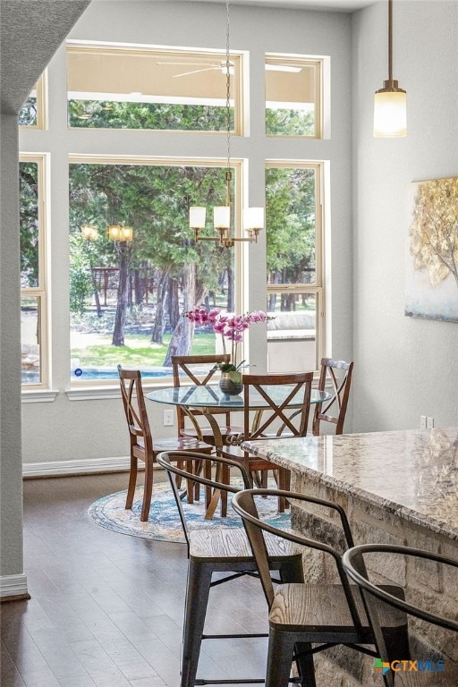
<svg viewBox="0 0 458 687">
<path fill-rule="evenodd" d="M 322 63 L 266 55 L 266 133 L 321 138 Z"/>
</svg>

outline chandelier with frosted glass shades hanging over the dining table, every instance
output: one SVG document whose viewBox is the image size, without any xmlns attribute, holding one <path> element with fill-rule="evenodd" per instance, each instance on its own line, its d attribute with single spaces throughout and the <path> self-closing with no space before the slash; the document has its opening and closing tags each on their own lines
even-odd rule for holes
<svg viewBox="0 0 458 687">
<path fill-rule="evenodd" d="M 227 162 L 225 170 L 225 205 L 213 208 L 213 227 L 216 235 L 207 236 L 201 232 L 206 226 L 207 208 L 191 206 L 190 227 L 194 232 L 194 239 L 199 241 L 214 241 L 224 248 L 232 248 L 235 242 L 258 242 L 261 229 L 264 229 L 264 208 L 245 208 L 242 213 L 243 228 L 247 232 L 246 237 L 233 236 L 231 233 L 231 73 L 233 64 L 230 61 L 229 51 L 229 0 L 225 3 L 225 63 L 222 63 L 225 72 L 225 119 Z"/>
</svg>

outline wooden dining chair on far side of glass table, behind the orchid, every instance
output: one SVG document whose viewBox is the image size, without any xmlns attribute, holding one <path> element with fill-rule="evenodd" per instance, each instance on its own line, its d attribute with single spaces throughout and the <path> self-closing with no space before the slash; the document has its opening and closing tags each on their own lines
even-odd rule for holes
<svg viewBox="0 0 458 687">
<path fill-rule="evenodd" d="M 173 355 L 172 356 L 172 370 L 174 373 L 174 386 L 182 386 L 182 384 L 195 384 L 197 386 L 205 386 L 208 384 L 215 384 L 216 373 L 219 372 L 218 365 L 230 362 L 231 356 L 227 353 L 216 355 Z M 221 410 L 212 411 L 213 415 L 224 416 L 225 424 L 220 426 L 221 437 L 223 442 L 227 437 L 237 435 L 242 432 L 242 427 L 235 427 L 231 423 L 231 411 Z M 206 441 L 208 444 L 215 445 L 215 437 L 213 429 L 200 424 L 196 418 L 202 416 L 203 413 L 198 410 L 193 410 L 191 414 L 187 415 L 180 406 L 176 407 L 176 417 L 178 422 L 178 431 L 183 437 L 195 437 L 200 441 Z M 185 417 L 191 419 L 193 428 L 185 426 Z"/>
</svg>

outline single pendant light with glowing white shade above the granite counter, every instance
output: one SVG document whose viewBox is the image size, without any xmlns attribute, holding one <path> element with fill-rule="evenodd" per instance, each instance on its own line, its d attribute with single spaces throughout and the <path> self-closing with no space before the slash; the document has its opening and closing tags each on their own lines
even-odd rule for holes
<svg viewBox="0 0 458 687">
<path fill-rule="evenodd" d="M 374 136 L 406 136 L 406 105 L 407 94 L 393 79 L 393 0 L 388 0 L 388 79 L 374 98 Z"/>
</svg>

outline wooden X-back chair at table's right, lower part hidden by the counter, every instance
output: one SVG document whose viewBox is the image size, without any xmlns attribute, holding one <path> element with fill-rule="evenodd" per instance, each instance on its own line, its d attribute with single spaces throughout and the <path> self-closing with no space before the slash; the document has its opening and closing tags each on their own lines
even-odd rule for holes
<svg viewBox="0 0 458 687">
<path fill-rule="evenodd" d="M 320 434 L 321 422 L 329 422 L 335 425 L 335 434 L 343 433 L 350 386 L 352 384 L 352 371 L 352 362 L 333 360 L 332 358 L 321 359 L 318 389 L 320 391 L 328 390 L 327 387 L 330 383 L 333 395 L 330 401 L 315 405 L 312 432 L 316 437 Z"/>
</svg>

